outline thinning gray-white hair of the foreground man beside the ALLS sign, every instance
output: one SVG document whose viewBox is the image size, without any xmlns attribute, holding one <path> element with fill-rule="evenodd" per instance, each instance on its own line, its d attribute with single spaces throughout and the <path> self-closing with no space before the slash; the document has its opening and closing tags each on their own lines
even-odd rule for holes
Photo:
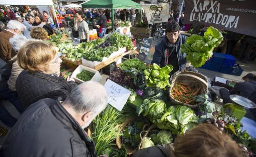
<svg viewBox="0 0 256 157">
<path fill-rule="evenodd" d="M 107 105 L 107 92 L 98 82 L 87 81 L 75 87 L 64 104 L 78 113 L 100 113 Z"/>
</svg>

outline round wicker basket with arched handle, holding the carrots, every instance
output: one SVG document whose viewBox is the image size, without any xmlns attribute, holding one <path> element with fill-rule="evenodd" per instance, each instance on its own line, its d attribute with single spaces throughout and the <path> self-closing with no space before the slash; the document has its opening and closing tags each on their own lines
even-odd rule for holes
<svg viewBox="0 0 256 157">
<path fill-rule="evenodd" d="M 191 86 L 198 84 L 201 89 L 199 91 L 199 95 L 201 94 L 206 94 L 207 90 L 208 90 L 208 83 L 207 83 L 207 79 L 204 75 L 202 75 L 201 73 L 197 73 L 197 72 L 193 72 L 193 71 L 181 71 L 179 73 L 176 73 L 176 75 L 173 77 L 172 81 L 171 81 L 171 87 L 169 89 L 169 97 L 170 100 L 173 104 L 176 105 L 185 105 L 188 106 L 190 108 L 197 108 L 199 106 L 199 104 L 185 104 L 183 102 L 180 102 L 176 99 L 174 99 L 174 97 L 172 97 L 172 89 L 174 87 L 174 85 L 176 84 L 176 82 L 183 82 L 186 84 L 189 84 Z"/>
</svg>

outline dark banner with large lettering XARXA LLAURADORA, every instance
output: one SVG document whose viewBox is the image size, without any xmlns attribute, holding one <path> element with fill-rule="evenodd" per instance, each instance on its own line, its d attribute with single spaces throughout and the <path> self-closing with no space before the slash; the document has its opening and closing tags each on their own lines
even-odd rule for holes
<svg viewBox="0 0 256 157">
<path fill-rule="evenodd" d="M 184 22 L 256 37 L 256 0 L 186 0 Z"/>
</svg>

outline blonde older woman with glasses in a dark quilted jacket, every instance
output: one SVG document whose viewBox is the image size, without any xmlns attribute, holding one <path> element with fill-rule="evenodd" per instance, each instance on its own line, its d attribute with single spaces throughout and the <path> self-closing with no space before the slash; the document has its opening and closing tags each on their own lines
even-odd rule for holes
<svg viewBox="0 0 256 157">
<path fill-rule="evenodd" d="M 56 76 L 62 60 L 53 44 L 29 41 L 18 51 L 17 58 L 24 71 L 16 80 L 16 90 L 26 108 L 43 98 L 65 100 L 76 86 L 75 82 Z"/>
</svg>

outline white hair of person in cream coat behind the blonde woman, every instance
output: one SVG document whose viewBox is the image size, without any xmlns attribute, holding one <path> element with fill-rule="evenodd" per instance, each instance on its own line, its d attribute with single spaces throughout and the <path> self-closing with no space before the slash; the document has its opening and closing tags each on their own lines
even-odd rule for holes
<svg viewBox="0 0 256 157">
<path fill-rule="evenodd" d="M 18 52 L 23 45 L 26 44 L 27 38 L 24 35 L 14 34 L 12 38 L 9 39 L 12 49 Z"/>
</svg>

